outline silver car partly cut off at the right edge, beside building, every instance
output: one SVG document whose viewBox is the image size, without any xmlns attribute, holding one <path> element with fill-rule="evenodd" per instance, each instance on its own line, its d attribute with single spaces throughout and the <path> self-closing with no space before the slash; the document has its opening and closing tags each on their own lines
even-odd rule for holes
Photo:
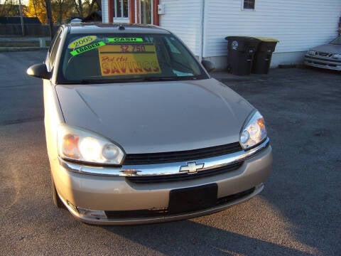
<svg viewBox="0 0 341 256">
<path fill-rule="evenodd" d="M 304 63 L 318 68 L 341 70 L 341 36 L 328 44 L 308 50 Z"/>
</svg>

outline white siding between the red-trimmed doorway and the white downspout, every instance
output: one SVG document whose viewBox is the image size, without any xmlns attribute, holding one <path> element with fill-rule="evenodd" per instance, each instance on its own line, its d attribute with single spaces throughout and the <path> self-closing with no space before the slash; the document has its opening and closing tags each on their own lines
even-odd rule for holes
<svg viewBox="0 0 341 256">
<path fill-rule="evenodd" d="M 201 48 L 202 6 L 197 0 L 161 0 L 165 14 L 160 15 L 160 26 L 175 33 L 195 55 Z"/>
</svg>

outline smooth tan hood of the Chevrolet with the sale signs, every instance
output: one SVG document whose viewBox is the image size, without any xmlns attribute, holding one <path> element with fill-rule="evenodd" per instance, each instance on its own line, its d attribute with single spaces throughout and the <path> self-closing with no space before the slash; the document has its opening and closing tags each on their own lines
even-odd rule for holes
<svg viewBox="0 0 341 256">
<path fill-rule="evenodd" d="M 66 124 L 97 132 L 127 154 L 238 142 L 254 109 L 213 78 L 56 85 L 55 89 Z"/>
</svg>

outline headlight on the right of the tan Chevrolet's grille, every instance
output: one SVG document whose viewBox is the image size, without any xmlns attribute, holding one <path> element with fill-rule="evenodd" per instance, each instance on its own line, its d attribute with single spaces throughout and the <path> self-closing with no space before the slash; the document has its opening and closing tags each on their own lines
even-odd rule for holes
<svg viewBox="0 0 341 256">
<path fill-rule="evenodd" d="M 240 144 L 243 149 L 249 149 L 251 146 L 255 146 L 262 142 L 266 136 L 264 118 L 258 111 L 252 112 L 240 133 Z"/>
</svg>

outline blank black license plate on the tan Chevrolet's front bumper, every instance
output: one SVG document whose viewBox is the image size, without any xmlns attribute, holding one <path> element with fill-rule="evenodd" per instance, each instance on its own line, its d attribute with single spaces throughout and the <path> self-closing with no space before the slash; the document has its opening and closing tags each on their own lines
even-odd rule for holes
<svg viewBox="0 0 341 256">
<path fill-rule="evenodd" d="M 168 213 L 189 213 L 217 204 L 216 183 L 193 188 L 174 189 L 169 194 Z"/>
</svg>

